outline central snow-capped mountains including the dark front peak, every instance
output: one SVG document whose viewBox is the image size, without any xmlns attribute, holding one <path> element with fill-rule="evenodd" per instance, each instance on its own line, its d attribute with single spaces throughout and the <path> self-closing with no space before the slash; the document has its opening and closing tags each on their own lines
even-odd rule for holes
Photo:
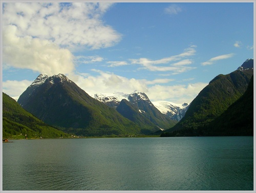
<svg viewBox="0 0 256 193">
<path fill-rule="evenodd" d="M 166 114 L 161 113 L 148 99 L 147 95 L 142 92 L 95 94 L 93 97 L 108 106 L 116 108 L 122 116 L 138 124 L 146 133 L 165 130 L 177 123 L 177 120 L 174 119 L 175 115 L 166 116 Z"/>
</svg>

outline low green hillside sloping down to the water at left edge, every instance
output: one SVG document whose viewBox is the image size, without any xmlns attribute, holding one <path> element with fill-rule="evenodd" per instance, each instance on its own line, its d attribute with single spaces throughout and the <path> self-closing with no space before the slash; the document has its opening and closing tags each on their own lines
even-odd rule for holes
<svg viewBox="0 0 256 193">
<path fill-rule="evenodd" d="M 3 138 L 59 138 L 69 137 L 29 112 L 3 93 Z"/>
</svg>

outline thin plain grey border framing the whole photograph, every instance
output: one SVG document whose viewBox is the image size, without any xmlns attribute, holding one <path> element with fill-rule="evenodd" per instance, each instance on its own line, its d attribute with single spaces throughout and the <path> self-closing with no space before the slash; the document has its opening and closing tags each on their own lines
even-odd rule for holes
<svg viewBox="0 0 256 193">
<path fill-rule="evenodd" d="M 256 188 L 255 188 L 255 185 L 256 185 L 256 176 L 255 176 L 255 171 L 256 171 L 256 165 L 255 165 L 255 156 L 256 156 L 256 151 L 255 151 L 255 145 L 256 145 L 256 142 L 255 142 L 255 134 L 256 134 L 256 120 L 255 120 L 255 116 L 256 116 L 256 101 L 254 100 L 253 101 L 253 105 L 254 105 L 254 112 L 253 112 L 253 115 L 254 115 L 254 122 L 253 122 L 253 127 L 254 127 L 254 135 L 253 135 L 253 162 L 254 162 L 254 167 L 253 167 L 253 190 L 250 190 L 250 191 L 222 191 L 222 190 L 219 190 L 219 191 L 214 191 L 214 190 L 209 190 L 209 191 L 202 191 L 202 190 L 176 190 L 176 191 L 173 191 L 173 190 L 150 190 L 150 191 L 147 191 L 147 190 L 86 190 L 86 191 L 69 191 L 69 190 L 57 190 L 57 191 L 41 191 L 41 190 L 35 190 L 35 191 L 24 191 L 24 190 L 19 190 L 19 191 L 12 191 L 12 190 L 3 190 L 3 58 L 2 58 L 2 53 L 3 53 L 3 34 L 2 34 L 2 15 L 3 15 L 3 3 L 15 3 L 15 2 L 23 2 L 23 3 L 26 3 L 26 2 L 96 2 L 95 0 L 92 1 L 92 0 L 25 0 L 25 1 L 22 1 L 22 0 L 0 0 L 0 131 L 1 131 L 1 134 L 0 134 L 0 140 L 1 140 L 1 144 L 0 144 L 0 192 L 6 192 L 6 193 L 19 193 L 19 192 L 24 192 L 24 193 L 30 193 L 30 192 L 47 192 L 47 193 L 50 193 L 50 192 L 103 192 L 103 193 L 111 193 L 111 192 L 116 192 L 116 193 L 119 193 L 119 192 L 124 192 L 124 193 L 129 193 L 129 192 L 134 192 L 134 193 L 146 193 L 146 192 L 163 192 L 163 193 L 168 193 L 168 192 L 256 192 Z M 255 94 L 256 94 L 256 87 L 255 87 L 255 83 L 256 83 L 256 78 L 255 78 L 255 73 L 256 73 L 256 65 L 255 65 L 255 56 L 256 56 L 256 34 L 255 34 L 255 27 L 256 27 L 256 0 L 139 0 L 139 1 L 136 1 L 136 0 L 98 0 L 97 2 L 113 2 L 113 3 L 253 3 L 253 20 L 254 20 L 254 26 L 253 26 L 253 74 L 254 74 L 254 99 L 255 99 Z"/>
</svg>

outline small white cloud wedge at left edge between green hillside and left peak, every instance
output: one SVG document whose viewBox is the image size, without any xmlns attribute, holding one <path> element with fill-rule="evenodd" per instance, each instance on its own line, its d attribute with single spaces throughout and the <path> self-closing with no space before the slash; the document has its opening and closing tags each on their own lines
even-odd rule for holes
<svg viewBox="0 0 256 193">
<path fill-rule="evenodd" d="M 15 100 L 29 87 L 33 81 L 30 80 L 7 80 L 3 82 L 3 92 Z"/>
</svg>

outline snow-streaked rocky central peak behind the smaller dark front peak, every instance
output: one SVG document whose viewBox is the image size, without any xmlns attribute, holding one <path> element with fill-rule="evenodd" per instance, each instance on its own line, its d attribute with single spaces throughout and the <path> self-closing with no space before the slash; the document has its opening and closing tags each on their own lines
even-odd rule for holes
<svg viewBox="0 0 256 193">
<path fill-rule="evenodd" d="M 160 130 L 166 130 L 166 128 L 174 126 L 177 123 L 177 121 L 162 114 L 150 99 L 148 99 L 145 93 L 135 91 L 128 96 L 128 100 L 144 117 L 156 124 Z"/>
</svg>

